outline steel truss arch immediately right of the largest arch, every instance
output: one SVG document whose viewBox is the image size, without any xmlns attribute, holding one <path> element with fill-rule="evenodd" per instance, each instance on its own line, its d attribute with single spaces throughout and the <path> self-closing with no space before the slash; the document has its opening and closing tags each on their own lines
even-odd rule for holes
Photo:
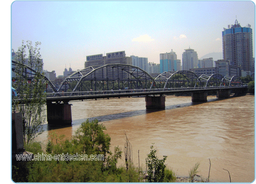
<svg viewBox="0 0 256 184">
<path fill-rule="evenodd" d="M 156 83 L 164 84 L 163 89 L 199 86 L 199 77 L 192 71 L 165 71 L 155 78 Z"/>
</svg>

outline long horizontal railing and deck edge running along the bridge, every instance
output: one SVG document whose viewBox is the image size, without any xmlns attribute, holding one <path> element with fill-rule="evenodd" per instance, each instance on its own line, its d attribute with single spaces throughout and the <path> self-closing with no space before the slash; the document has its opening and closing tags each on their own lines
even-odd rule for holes
<svg viewBox="0 0 256 184">
<path fill-rule="evenodd" d="M 222 88 L 237 88 L 237 87 L 246 87 L 243 86 L 210 86 L 210 87 L 181 87 L 181 88 L 165 88 L 165 89 L 119 89 L 119 90 L 105 90 L 105 91 L 82 91 L 82 92 L 51 92 L 47 93 L 47 97 L 57 97 L 57 96 L 87 96 L 87 95 L 111 95 L 111 94 L 127 94 L 127 93 L 139 93 L 143 95 L 143 92 L 172 92 L 172 91 L 191 91 L 193 89 L 222 89 Z"/>
</svg>

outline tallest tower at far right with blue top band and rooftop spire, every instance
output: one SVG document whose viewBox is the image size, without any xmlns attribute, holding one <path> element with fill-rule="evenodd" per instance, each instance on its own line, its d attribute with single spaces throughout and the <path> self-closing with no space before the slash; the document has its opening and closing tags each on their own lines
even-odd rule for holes
<svg viewBox="0 0 256 184">
<path fill-rule="evenodd" d="M 229 60 L 230 65 L 238 66 L 241 70 L 253 73 L 253 33 L 248 27 L 241 27 L 237 20 L 235 25 L 228 25 L 222 32 L 223 59 Z"/>
</svg>

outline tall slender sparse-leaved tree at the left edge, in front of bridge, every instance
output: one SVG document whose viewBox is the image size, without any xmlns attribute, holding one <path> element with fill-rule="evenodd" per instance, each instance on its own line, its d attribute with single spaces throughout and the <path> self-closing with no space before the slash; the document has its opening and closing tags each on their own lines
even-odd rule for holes
<svg viewBox="0 0 256 184">
<path fill-rule="evenodd" d="M 12 109 L 22 113 L 24 142 L 27 143 L 42 133 L 42 124 L 45 121 L 46 96 L 42 73 L 43 63 L 40 59 L 40 48 L 38 48 L 40 44 L 40 42 L 36 42 L 33 47 L 32 42 L 27 41 L 27 44 L 24 45 L 24 41 L 22 41 L 22 45 L 18 49 L 18 56 L 14 59 L 17 64 L 16 77 L 12 81 L 12 86 L 17 90 L 21 103 L 13 100 Z M 26 55 L 26 49 L 28 55 Z M 36 72 L 33 73 L 24 67 L 25 64 Z"/>
</svg>

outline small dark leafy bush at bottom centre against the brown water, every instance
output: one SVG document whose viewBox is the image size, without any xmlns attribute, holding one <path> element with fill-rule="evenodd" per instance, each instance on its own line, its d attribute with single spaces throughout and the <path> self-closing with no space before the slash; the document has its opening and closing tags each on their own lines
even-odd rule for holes
<svg viewBox="0 0 256 184">
<path fill-rule="evenodd" d="M 151 145 L 151 151 L 146 158 L 146 164 L 148 166 L 148 182 L 163 182 L 165 177 L 165 168 L 164 162 L 167 156 L 163 156 L 163 159 L 158 159 L 156 153 L 157 150 L 153 149 Z"/>
</svg>

